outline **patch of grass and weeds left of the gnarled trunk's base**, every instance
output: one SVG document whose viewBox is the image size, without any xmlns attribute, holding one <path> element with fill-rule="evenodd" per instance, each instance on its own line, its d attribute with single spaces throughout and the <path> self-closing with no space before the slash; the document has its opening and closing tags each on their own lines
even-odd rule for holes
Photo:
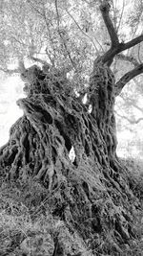
<svg viewBox="0 0 143 256">
<path fill-rule="evenodd" d="M 47 191 L 39 183 L 18 187 L 1 183 L 0 256 L 52 256 L 58 234 L 67 255 L 70 250 L 92 255 L 76 232 L 71 234 L 64 221 L 53 219 Z"/>
</svg>

